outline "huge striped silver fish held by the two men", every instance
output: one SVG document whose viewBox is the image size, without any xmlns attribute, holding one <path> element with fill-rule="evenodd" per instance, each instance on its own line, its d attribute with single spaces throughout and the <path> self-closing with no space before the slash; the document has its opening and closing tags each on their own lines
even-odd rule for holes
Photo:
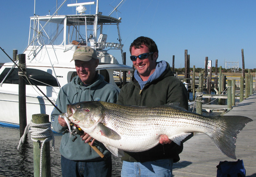
<svg viewBox="0 0 256 177">
<path fill-rule="evenodd" d="M 204 133 L 223 154 L 236 159 L 237 134 L 252 121 L 246 116 L 204 116 L 173 105 L 145 107 L 103 101 L 67 105 L 66 116 L 119 157 L 124 151 L 152 149 L 161 135 L 180 145 L 191 133 Z"/>
</svg>

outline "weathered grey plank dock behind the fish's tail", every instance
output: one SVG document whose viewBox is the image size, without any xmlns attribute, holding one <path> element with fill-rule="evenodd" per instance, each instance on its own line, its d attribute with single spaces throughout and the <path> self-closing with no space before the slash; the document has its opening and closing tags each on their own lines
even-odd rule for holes
<svg viewBox="0 0 256 177">
<path fill-rule="evenodd" d="M 234 106 L 225 115 L 242 115 L 253 119 L 238 134 L 237 159 L 244 161 L 247 177 L 256 177 L 256 93 Z M 220 161 L 236 161 L 225 156 L 205 134 L 198 133 L 184 143 L 180 161 L 173 164 L 173 177 L 216 177 Z"/>
</svg>

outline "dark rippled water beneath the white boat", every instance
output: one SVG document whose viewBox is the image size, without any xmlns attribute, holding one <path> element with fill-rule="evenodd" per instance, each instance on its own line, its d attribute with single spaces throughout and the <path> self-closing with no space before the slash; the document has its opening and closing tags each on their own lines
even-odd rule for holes
<svg viewBox="0 0 256 177">
<path fill-rule="evenodd" d="M 55 151 L 51 154 L 51 176 L 61 177 L 59 146 L 62 135 L 55 134 Z M 11 177 L 33 177 L 33 141 L 28 133 L 28 141 L 20 151 L 19 129 L 0 126 L 0 175 Z M 52 141 L 50 142 L 52 147 Z M 112 156 L 112 177 L 121 176 L 122 161 Z"/>
</svg>

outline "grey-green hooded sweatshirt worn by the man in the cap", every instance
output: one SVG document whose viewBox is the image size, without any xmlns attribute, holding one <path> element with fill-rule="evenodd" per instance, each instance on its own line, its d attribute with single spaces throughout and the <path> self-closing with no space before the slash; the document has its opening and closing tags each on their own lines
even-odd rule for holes
<svg viewBox="0 0 256 177">
<path fill-rule="evenodd" d="M 102 75 L 97 75 L 96 80 L 89 86 L 83 86 L 78 76 L 74 77 L 71 82 L 64 85 L 60 91 L 56 101 L 56 106 L 63 112 L 66 112 L 66 105 L 81 101 L 106 101 L 116 102 L 119 91 L 111 84 L 104 81 Z M 62 127 L 59 124 L 59 111 L 53 109 L 51 114 L 52 127 L 58 133 L 62 133 L 67 127 Z M 60 154 L 65 158 L 73 161 L 94 161 L 101 157 L 88 145 L 84 143 L 81 137 L 72 142 L 73 137 L 66 132 L 62 135 L 60 144 Z M 111 153 L 100 142 L 95 141 L 95 146 L 105 156 L 110 156 Z"/>
</svg>

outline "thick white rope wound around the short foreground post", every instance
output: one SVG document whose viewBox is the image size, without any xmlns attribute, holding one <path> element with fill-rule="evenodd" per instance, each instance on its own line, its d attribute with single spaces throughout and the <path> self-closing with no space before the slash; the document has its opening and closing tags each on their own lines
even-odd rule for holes
<svg viewBox="0 0 256 177">
<path fill-rule="evenodd" d="M 21 139 L 19 140 L 18 150 L 21 148 L 22 144 L 25 141 L 26 134 L 31 133 L 31 140 L 34 142 L 42 143 L 41 150 L 40 150 L 40 177 L 42 177 L 42 156 L 43 156 L 43 147 L 45 142 L 52 140 L 52 151 L 54 151 L 54 135 L 51 130 L 51 123 L 33 123 L 32 120 L 26 126 L 24 130 L 24 134 L 22 135 Z M 35 140 L 34 138 L 45 138 L 45 140 Z"/>
</svg>

